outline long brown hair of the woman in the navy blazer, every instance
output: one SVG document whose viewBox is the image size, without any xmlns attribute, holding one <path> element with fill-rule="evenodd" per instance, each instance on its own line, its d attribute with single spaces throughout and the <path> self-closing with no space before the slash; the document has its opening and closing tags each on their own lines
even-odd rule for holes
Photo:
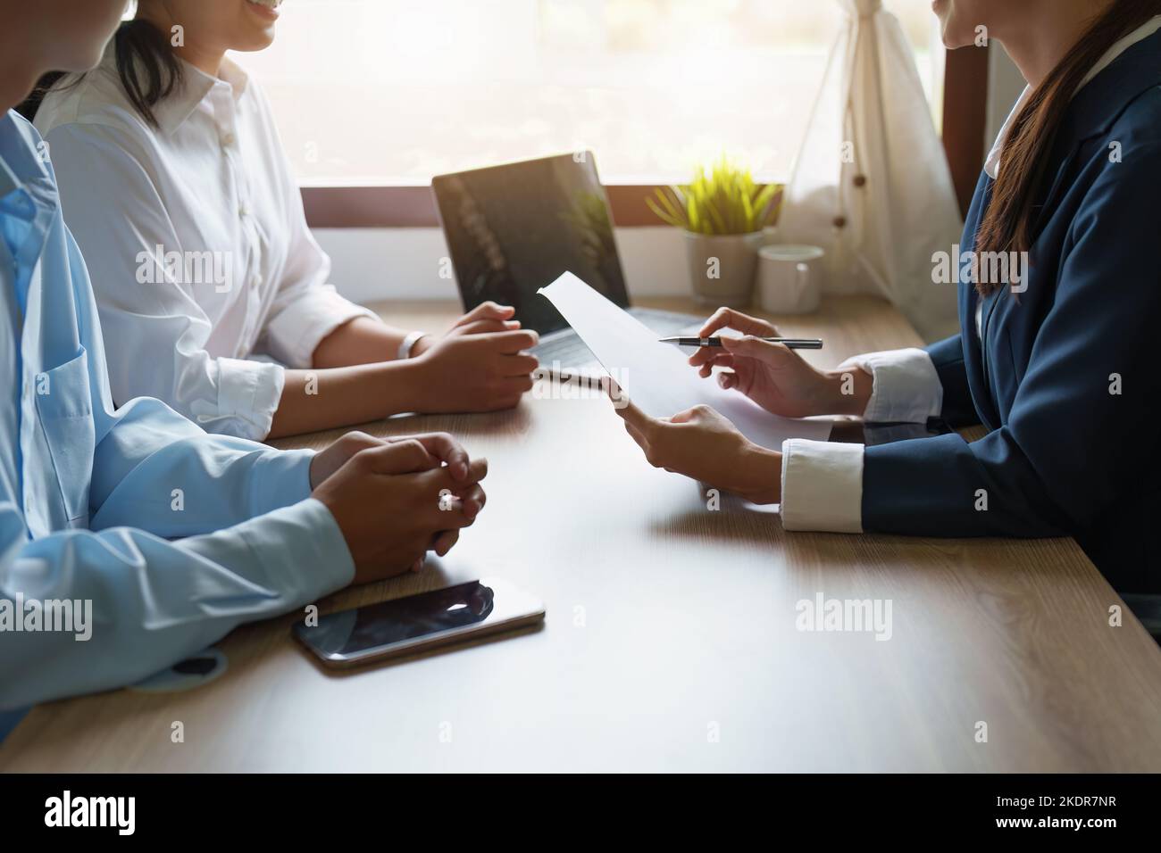
<svg viewBox="0 0 1161 853">
<path fill-rule="evenodd" d="M 1026 252 L 1036 226 L 1032 204 L 1045 179 L 1057 130 L 1081 80 L 1122 37 L 1161 14 L 1161 0 L 1113 0 L 1068 55 L 1036 87 L 1012 121 L 1000 175 L 976 234 L 976 252 Z M 976 255 L 979 256 L 979 255 Z M 981 295 L 1002 282 L 978 282 Z"/>
</svg>

